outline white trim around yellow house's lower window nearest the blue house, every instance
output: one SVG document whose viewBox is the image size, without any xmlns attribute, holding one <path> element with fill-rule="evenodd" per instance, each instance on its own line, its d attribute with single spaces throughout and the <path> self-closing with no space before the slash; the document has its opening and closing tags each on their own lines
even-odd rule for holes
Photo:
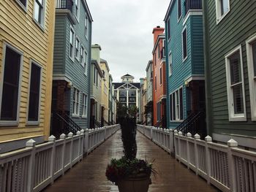
<svg viewBox="0 0 256 192">
<path fill-rule="evenodd" d="M 29 120 L 29 99 L 30 99 L 30 80 L 31 80 L 31 68 L 32 68 L 32 63 L 35 64 L 36 66 L 39 66 L 40 70 L 40 85 L 39 85 L 39 101 L 38 101 L 38 120 L 36 121 L 31 121 Z M 41 110 L 41 93 L 42 93 L 42 66 L 37 62 L 31 59 L 30 61 L 30 69 L 29 69 L 29 92 L 28 92 L 28 104 L 27 104 L 27 110 L 26 110 L 26 125 L 28 126 L 37 126 L 40 123 L 40 110 Z"/>
</svg>

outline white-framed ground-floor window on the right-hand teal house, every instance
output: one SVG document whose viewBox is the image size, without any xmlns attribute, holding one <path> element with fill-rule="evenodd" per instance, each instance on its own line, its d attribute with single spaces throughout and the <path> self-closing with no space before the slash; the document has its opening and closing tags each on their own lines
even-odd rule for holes
<svg viewBox="0 0 256 192">
<path fill-rule="evenodd" d="M 183 120 L 183 92 L 182 88 L 170 93 L 170 120 Z"/>
</svg>

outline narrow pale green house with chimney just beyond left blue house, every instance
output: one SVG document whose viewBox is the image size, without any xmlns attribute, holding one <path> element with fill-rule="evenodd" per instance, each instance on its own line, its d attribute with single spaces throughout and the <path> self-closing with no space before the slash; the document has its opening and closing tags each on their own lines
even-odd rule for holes
<svg viewBox="0 0 256 192">
<path fill-rule="evenodd" d="M 90 128 L 100 127 L 102 115 L 102 80 L 103 73 L 100 69 L 100 51 L 99 45 L 91 45 L 91 111 Z M 99 63 L 98 63 L 99 62 Z"/>
</svg>

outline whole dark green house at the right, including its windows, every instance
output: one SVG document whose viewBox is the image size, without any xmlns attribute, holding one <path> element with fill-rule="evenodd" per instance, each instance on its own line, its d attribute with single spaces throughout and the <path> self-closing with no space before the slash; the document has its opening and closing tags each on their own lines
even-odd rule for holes
<svg viewBox="0 0 256 192">
<path fill-rule="evenodd" d="M 256 1 L 203 2 L 208 132 L 255 148 Z"/>
</svg>

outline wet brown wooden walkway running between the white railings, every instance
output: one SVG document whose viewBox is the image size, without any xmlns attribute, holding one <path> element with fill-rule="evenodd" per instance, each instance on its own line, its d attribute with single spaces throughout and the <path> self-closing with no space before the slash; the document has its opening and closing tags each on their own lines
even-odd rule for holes
<svg viewBox="0 0 256 192">
<path fill-rule="evenodd" d="M 152 184 L 148 191 L 218 191 L 139 132 L 137 145 L 137 157 L 147 158 L 149 161 L 154 159 L 154 167 L 158 172 L 157 177 L 151 176 Z M 123 155 L 122 150 L 121 131 L 118 131 L 44 191 L 118 191 L 105 177 L 105 169 L 111 158 L 120 158 Z"/>
</svg>

